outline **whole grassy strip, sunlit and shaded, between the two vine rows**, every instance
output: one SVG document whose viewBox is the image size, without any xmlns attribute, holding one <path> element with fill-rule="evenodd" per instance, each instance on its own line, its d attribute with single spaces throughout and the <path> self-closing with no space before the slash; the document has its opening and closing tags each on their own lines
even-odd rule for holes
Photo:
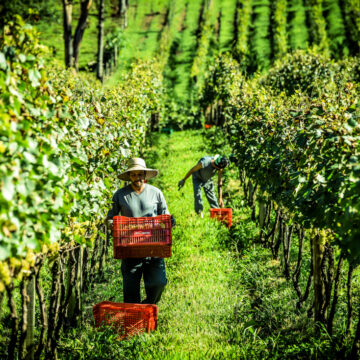
<svg viewBox="0 0 360 360">
<path fill-rule="evenodd" d="M 234 209 L 231 231 L 195 215 L 191 179 L 177 190 L 179 179 L 207 154 L 204 144 L 200 131 L 162 134 L 153 137 L 144 154 L 147 165 L 159 169 L 151 183 L 163 190 L 177 220 L 158 329 L 126 341 L 118 341 L 109 329 L 94 330 L 92 306 L 122 301 L 120 261 L 110 255 L 106 280 L 87 296 L 83 326 L 60 341 L 61 359 L 334 358 L 329 338 L 316 333 L 306 316 L 308 304 L 295 311 L 297 299 L 279 262 L 255 245 L 257 230 L 238 197 L 235 170 L 229 170 L 225 199 Z"/>
</svg>

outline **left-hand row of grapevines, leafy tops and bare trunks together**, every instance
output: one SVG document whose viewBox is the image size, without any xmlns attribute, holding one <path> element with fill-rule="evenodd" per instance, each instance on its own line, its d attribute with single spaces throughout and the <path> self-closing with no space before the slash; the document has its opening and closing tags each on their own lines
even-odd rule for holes
<svg viewBox="0 0 360 360">
<path fill-rule="evenodd" d="M 0 357 L 56 358 L 101 277 L 116 173 L 141 154 L 161 76 L 137 63 L 102 89 L 44 64 L 47 49 L 19 17 L 0 43 Z"/>
</svg>

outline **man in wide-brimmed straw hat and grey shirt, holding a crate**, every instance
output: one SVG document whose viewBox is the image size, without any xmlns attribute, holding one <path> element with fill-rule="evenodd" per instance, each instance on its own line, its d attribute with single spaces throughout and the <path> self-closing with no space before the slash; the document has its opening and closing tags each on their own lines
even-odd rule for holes
<svg viewBox="0 0 360 360">
<path fill-rule="evenodd" d="M 129 181 L 130 184 L 115 192 L 113 205 L 108 212 L 107 219 L 112 219 L 119 214 L 127 217 L 152 217 L 169 214 L 161 190 L 145 182 L 157 174 L 158 170 L 147 168 L 143 159 L 130 159 L 127 170 L 118 175 L 119 179 Z M 173 218 L 172 225 L 175 225 Z M 125 303 L 156 304 L 160 300 L 167 283 L 163 258 L 123 259 L 121 272 Z M 140 299 L 142 277 L 144 278 L 146 292 L 146 299 L 143 301 Z"/>
</svg>

